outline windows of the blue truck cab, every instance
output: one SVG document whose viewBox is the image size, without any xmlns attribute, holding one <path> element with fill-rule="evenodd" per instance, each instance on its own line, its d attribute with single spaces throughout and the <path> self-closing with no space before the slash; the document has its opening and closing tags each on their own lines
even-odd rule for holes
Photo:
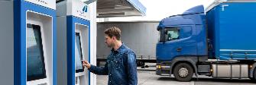
<svg viewBox="0 0 256 85">
<path fill-rule="evenodd" d="M 179 39 L 179 30 L 177 27 L 164 28 L 159 30 L 159 33 L 160 33 L 159 42 Z"/>
</svg>

